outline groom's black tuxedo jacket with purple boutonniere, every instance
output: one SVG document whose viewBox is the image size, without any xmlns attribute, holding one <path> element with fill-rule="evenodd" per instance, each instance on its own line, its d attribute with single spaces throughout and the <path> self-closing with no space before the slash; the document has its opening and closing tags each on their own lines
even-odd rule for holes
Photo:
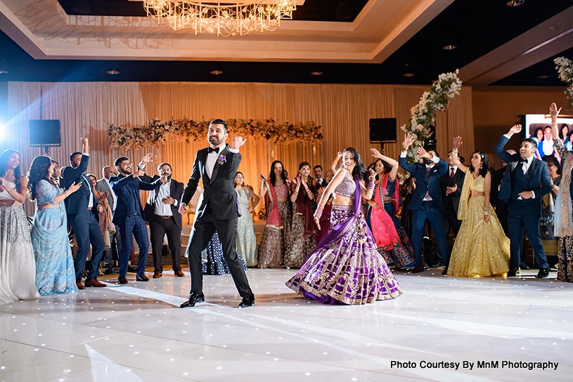
<svg viewBox="0 0 573 382">
<path fill-rule="evenodd" d="M 207 206 L 210 206 L 215 218 L 228 220 L 238 217 L 237 193 L 233 187 L 233 179 L 239 168 L 241 155 L 230 150 L 229 145 L 219 152 L 219 156 L 224 157 L 224 163 L 215 162 L 211 178 L 207 176 L 205 166 L 207 164 L 207 147 L 197 152 L 195 162 L 193 162 L 193 172 L 187 182 L 181 202 L 189 204 L 193 197 L 199 180 L 203 182 L 204 191 L 199 198 L 197 206 L 197 217 L 200 218 L 205 213 Z"/>
</svg>

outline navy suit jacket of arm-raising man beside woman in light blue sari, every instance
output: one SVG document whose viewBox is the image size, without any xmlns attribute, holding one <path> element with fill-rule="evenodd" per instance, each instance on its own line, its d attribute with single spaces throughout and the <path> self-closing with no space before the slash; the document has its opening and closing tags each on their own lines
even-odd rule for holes
<svg viewBox="0 0 573 382">
<path fill-rule="evenodd" d="M 79 166 L 65 166 L 62 170 L 62 180 L 65 190 L 70 188 L 70 185 L 79 182 L 83 179 L 82 186 L 76 192 L 72 192 L 68 197 L 64 199 L 65 211 L 68 215 L 82 213 L 87 211 L 89 204 L 89 193 L 91 190 L 91 195 L 93 198 L 94 206 L 91 208 L 91 213 L 96 216 L 96 220 L 99 220 L 98 214 L 98 201 L 96 199 L 96 194 L 94 192 L 94 187 L 91 185 L 89 178 L 84 178 L 83 173 L 86 172 L 89 164 L 89 155 L 82 155 L 82 162 L 79 162 Z"/>
</svg>

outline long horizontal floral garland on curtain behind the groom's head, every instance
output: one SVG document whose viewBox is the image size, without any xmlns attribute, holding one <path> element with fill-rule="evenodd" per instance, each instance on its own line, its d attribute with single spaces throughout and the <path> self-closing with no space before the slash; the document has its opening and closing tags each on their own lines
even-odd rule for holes
<svg viewBox="0 0 573 382">
<path fill-rule="evenodd" d="M 322 140 L 321 126 L 308 121 L 300 124 L 278 123 L 274 119 L 228 119 L 228 130 L 231 134 L 264 138 L 274 143 L 315 143 Z M 108 126 L 108 142 L 112 149 L 129 150 L 165 142 L 167 135 L 195 142 L 205 140 L 209 121 L 193 119 L 169 119 L 160 121 L 155 118 L 147 125 L 136 126 L 125 124 Z"/>
</svg>

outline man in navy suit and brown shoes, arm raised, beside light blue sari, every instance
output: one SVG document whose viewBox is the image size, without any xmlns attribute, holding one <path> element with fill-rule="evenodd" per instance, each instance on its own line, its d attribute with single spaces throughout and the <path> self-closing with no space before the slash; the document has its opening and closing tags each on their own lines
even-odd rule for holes
<svg viewBox="0 0 573 382">
<path fill-rule="evenodd" d="M 76 271 L 77 289 L 85 289 L 86 286 L 106 286 L 98 282 L 99 265 L 105 242 L 98 225 L 98 211 L 103 211 L 103 206 L 98 204 L 91 180 L 86 177 L 86 169 L 89 164 L 88 138 L 82 138 L 83 152 L 73 152 L 70 155 L 70 166 L 62 170 L 63 186 L 67 190 L 70 185 L 82 182 L 77 192 L 73 192 L 65 198 L 65 211 L 67 222 L 72 226 L 77 241 L 77 253 L 74 260 Z M 91 244 L 91 261 L 86 263 Z M 84 269 L 87 268 L 86 285 L 82 285 Z"/>
</svg>

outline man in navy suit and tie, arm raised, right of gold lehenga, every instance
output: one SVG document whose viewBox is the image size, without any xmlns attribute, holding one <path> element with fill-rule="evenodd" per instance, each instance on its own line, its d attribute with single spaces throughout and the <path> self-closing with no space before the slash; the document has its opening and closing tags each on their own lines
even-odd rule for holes
<svg viewBox="0 0 573 382">
<path fill-rule="evenodd" d="M 541 244 L 539 221 L 541 197 L 551 192 L 551 178 L 547 164 L 534 157 L 537 149 L 535 140 L 522 139 L 519 154 L 512 155 L 503 150 L 503 146 L 508 143 L 511 136 L 520 132 L 521 125 L 512 126 L 494 147 L 498 157 L 508 164 L 498 195 L 498 199 L 507 199 L 509 203 L 508 231 L 511 240 L 511 258 L 508 277 L 515 277 L 519 272 L 523 230 L 525 230 L 535 254 L 535 261 L 539 265 L 536 277 L 544 278 L 549 275 L 549 265 Z"/>
</svg>

